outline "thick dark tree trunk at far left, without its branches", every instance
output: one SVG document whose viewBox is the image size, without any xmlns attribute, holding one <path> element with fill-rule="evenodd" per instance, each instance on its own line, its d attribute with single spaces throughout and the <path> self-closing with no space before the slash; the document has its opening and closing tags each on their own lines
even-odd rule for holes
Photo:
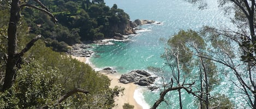
<svg viewBox="0 0 256 109">
<path fill-rule="evenodd" d="M 17 22 L 20 20 L 19 0 L 11 2 L 10 21 L 8 27 L 8 60 L 4 78 L 3 91 L 10 88 L 16 78 L 16 61 L 17 61 Z"/>
</svg>

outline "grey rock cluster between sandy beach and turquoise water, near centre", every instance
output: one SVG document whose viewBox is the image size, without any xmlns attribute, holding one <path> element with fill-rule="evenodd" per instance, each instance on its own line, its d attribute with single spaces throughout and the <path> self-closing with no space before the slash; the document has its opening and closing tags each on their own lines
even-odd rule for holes
<svg viewBox="0 0 256 109">
<path fill-rule="evenodd" d="M 140 86 L 150 86 L 156 78 L 157 77 L 151 76 L 151 74 L 145 70 L 132 70 L 127 74 L 122 74 L 119 82 L 123 84 L 134 82 L 134 84 L 138 84 Z"/>
</svg>

